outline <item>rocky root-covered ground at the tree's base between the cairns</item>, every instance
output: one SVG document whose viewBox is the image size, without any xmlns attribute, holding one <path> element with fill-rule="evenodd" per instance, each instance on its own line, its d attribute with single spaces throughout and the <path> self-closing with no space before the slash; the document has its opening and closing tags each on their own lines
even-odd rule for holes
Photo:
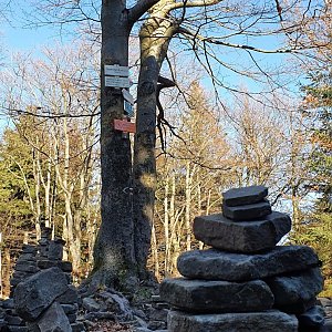
<svg viewBox="0 0 332 332">
<path fill-rule="evenodd" d="M 94 294 L 81 294 L 82 321 L 91 332 L 167 332 L 169 308 L 153 289 L 145 289 L 144 297 L 129 301 L 121 293 L 104 289 Z M 332 299 L 320 298 L 318 303 L 325 311 L 325 326 L 318 332 L 332 332 Z"/>
</svg>

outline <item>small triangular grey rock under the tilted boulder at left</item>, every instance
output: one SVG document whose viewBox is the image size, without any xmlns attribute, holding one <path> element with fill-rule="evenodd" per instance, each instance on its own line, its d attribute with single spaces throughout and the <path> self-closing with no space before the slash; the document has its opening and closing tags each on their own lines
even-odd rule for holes
<svg viewBox="0 0 332 332">
<path fill-rule="evenodd" d="M 41 332 L 71 332 L 71 324 L 58 302 L 45 311 L 45 313 L 37 322 Z"/>
</svg>

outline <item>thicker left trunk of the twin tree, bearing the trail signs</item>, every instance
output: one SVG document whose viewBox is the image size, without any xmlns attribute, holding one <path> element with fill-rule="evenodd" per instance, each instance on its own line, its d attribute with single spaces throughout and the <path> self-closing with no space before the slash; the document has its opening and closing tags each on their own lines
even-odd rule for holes
<svg viewBox="0 0 332 332">
<path fill-rule="evenodd" d="M 124 114 L 123 97 L 120 89 L 105 86 L 104 65 L 128 65 L 125 1 L 104 0 L 101 19 L 102 224 L 94 247 L 92 277 L 100 284 L 124 287 L 127 278 L 135 274 L 131 142 L 113 128 L 114 118 Z"/>
</svg>

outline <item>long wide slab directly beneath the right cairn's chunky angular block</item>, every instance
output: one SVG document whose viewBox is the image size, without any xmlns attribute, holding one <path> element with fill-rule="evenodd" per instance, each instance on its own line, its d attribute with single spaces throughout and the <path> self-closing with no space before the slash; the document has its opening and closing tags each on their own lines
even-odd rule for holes
<svg viewBox="0 0 332 332">
<path fill-rule="evenodd" d="M 320 260 L 307 246 L 277 246 L 266 253 L 245 255 L 217 249 L 193 250 L 177 259 L 178 271 L 189 279 L 246 281 L 318 267 Z"/>
</svg>

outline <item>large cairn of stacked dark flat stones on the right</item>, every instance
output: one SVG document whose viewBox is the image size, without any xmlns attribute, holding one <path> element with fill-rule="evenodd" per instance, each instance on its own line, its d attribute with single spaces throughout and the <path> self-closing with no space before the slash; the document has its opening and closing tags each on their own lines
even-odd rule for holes
<svg viewBox="0 0 332 332">
<path fill-rule="evenodd" d="M 263 186 L 230 189 L 222 214 L 195 218 L 196 239 L 212 248 L 180 255 L 185 278 L 160 284 L 175 309 L 169 332 L 321 331 L 319 258 L 307 246 L 277 246 L 291 219 L 272 211 L 267 195 Z"/>
</svg>

